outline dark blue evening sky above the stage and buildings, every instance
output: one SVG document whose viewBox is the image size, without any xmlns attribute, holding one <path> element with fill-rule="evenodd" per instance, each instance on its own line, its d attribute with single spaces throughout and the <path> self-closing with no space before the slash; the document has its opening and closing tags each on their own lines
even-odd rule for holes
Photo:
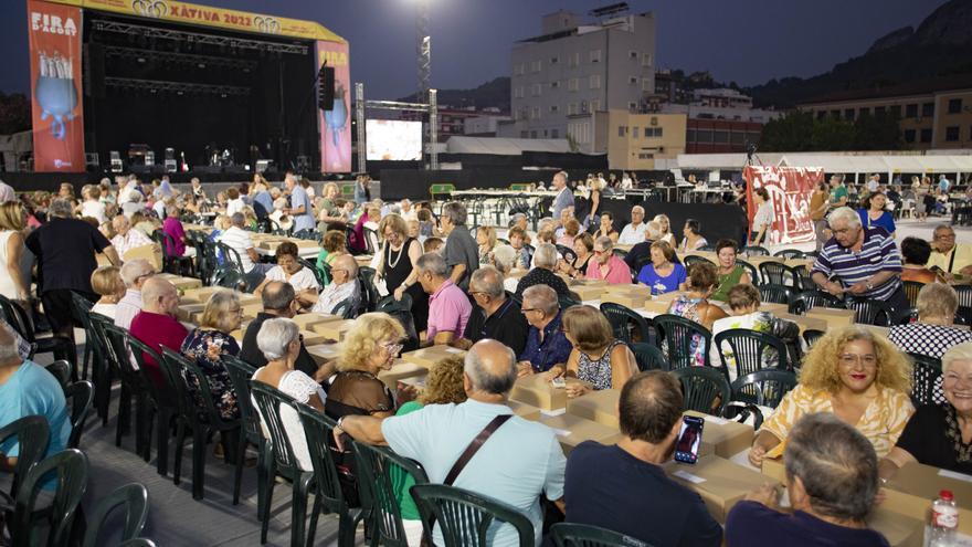
<svg viewBox="0 0 972 547">
<path fill-rule="evenodd" d="M 587 12 L 612 0 L 431 0 L 432 85 L 474 87 L 509 75 L 514 41 L 540 33 L 540 17 Z M 27 2 L 0 0 L 0 91 L 28 88 Z M 203 0 L 198 3 L 310 19 L 350 42 L 351 78 L 370 98 L 415 88 L 411 0 Z M 658 67 L 709 70 L 740 85 L 811 76 L 859 55 L 875 39 L 918 25 L 944 0 L 656 0 L 628 2 L 658 19 Z"/>
</svg>

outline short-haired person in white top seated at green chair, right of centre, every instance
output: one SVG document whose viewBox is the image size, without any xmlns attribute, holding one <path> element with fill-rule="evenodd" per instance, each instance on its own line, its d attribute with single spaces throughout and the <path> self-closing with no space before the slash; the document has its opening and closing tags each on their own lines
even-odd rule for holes
<svg viewBox="0 0 972 547">
<path fill-rule="evenodd" d="M 716 335 L 733 328 L 744 328 L 759 333 L 767 333 L 780 340 L 786 346 L 786 358 L 791 366 L 800 364 L 801 344 L 800 344 L 800 325 L 792 320 L 773 317 L 769 312 L 760 312 L 759 290 L 749 284 L 736 285 L 729 290 L 729 308 L 731 315 L 722 319 L 717 319 L 712 324 L 712 353 L 709 356 L 709 364 L 714 367 L 721 366 L 723 362 L 728 367 L 729 381 L 735 381 L 737 377 L 736 354 L 728 343 L 722 343 L 722 347 L 716 347 Z M 721 355 L 721 359 L 720 359 Z M 752 362 L 756 356 L 747 356 Z M 759 356 L 761 368 L 776 368 L 780 365 L 780 355 L 775 349 L 768 347 Z M 752 372 L 750 370 L 749 372 Z"/>
</svg>

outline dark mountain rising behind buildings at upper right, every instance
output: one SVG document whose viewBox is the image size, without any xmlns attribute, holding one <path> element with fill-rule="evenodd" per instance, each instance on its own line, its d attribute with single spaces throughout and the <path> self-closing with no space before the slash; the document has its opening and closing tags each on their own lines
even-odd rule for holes
<svg viewBox="0 0 972 547">
<path fill-rule="evenodd" d="M 786 77 L 746 90 L 759 106 L 793 107 L 854 90 L 877 90 L 936 76 L 972 74 L 972 0 L 950 0 L 918 29 L 906 27 L 880 39 L 860 56 L 810 78 Z"/>
</svg>

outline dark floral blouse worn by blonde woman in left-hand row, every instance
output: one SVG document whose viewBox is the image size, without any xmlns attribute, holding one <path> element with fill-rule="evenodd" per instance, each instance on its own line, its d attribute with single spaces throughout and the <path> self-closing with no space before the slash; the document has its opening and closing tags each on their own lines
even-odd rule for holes
<svg viewBox="0 0 972 547">
<path fill-rule="evenodd" d="M 202 369 L 209 381 L 209 389 L 213 395 L 213 402 L 219 408 L 220 415 L 226 420 L 235 420 L 240 418 L 240 409 L 236 408 L 236 392 L 233 391 L 233 383 L 230 381 L 230 374 L 226 367 L 220 360 L 221 355 L 240 355 L 240 346 L 232 336 L 219 330 L 204 330 L 197 328 L 189 333 L 182 343 L 182 355 L 188 359 L 192 359 L 196 365 Z M 183 377 L 189 385 L 190 390 L 196 397 L 196 403 L 203 406 L 202 397 L 197 392 L 199 385 L 194 376 Z"/>
</svg>

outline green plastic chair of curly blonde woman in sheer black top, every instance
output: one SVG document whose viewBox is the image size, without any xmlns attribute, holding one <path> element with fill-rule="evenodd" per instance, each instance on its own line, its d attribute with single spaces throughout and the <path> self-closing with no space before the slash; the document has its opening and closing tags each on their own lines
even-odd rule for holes
<svg viewBox="0 0 972 547">
<path fill-rule="evenodd" d="M 307 451 L 310 454 L 310 463 L 314 465 L 310 487 L 314 488 L 315 496 L 314 507 L 310 509 L 310 529 L 307 532 L 307 545 L 314 543 L 317 518 L 320 512 L 327 511 L 338 515 L 338 547 L 352 547 L 355 545 L 355 530 L 358 528 L 358 523 L 368 513 L 362 507 L 351 507 L 345 497 L 344 491 L 341 491 L 341 482 L 338 478 L 337 465 L 335 465 L 331 457 L 330 449 L 334 443 L 334 428 L 337 427 L 337 422 L 306 404 L 292 403 L 292 407 L 297 410 L 300 417 L 300 423 L 304 425 L 304 433 L 307 436 Z M 358 484 L 360 486 L 360 480 Z"/>
</svg>

